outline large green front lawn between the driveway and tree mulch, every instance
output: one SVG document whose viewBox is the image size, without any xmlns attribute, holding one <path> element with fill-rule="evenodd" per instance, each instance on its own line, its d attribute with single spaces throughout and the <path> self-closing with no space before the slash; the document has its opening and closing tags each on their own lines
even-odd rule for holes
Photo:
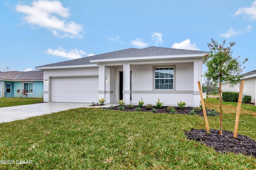
<svg viewBox="0 0 256 170">
<path fill-rule="evenodd" d="M 208 117 L 218 129 L 219 117 Z M 223 129 L 234 130 L 234 113 L 223 114 Z M 256 139 L 256 117 L 240 115 L 238 133 Z M 256 158 L 220 154 L 186 139 L 204 129 L 198 115 L 122 112 L 78 108 L 0 123 L 0 169 L 256 169 Z"/>
</svg>

